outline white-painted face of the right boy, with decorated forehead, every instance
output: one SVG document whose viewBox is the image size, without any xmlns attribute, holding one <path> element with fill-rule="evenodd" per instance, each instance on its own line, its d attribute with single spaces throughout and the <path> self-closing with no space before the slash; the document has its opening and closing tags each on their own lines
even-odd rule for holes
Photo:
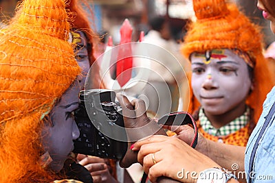
<svg viewBox="0 0 275 183">
<path fill-rule="evenodd" d="M 210 57 L 209 57 L 210 54 Z M 248 64 L 229 49 L 192 53 L 192 90 L 205 112 L 219 115 L 245 103 L 252 82 Z"/>
</svg>

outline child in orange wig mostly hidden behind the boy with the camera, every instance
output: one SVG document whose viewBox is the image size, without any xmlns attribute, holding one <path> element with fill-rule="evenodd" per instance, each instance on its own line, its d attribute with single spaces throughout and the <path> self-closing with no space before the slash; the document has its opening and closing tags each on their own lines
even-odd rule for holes
<svg viewBox="0 0 275 183">
<path fill-rule="evenodd" d="M 95 62 L 96 59 L 94 57 L 94 40 L 96 38 L 96 34 L 90 27 L 91 23 L 89 23 L 88 20 L 89 16 L 87 12 L 83 10 L 78 0 L 70 1 L 69 10 L 71 12 L 76 12 L 76 17 L 72 22 L 72 25 L 74 25 L 74 27 L 71 31 L 71 40 L 72 43 L 76 45 L 76 47 L 74 47 L 76 60 L 78 62 L 78 65 L 82 69 L 82 77 L 80 77 L 79 80 L 80 90 L 85 89 L 86 76 L 91 66 L 93 66 L 93 70 L 91 72 L 94 72 L 94 78 L 93 80 L 91 80 L 92 83 L 89 83 L 87 85 L 89 85 L 89 87 L 91 88 L 104 88 L 104 84 L 102 84 L 102 82 L 100 81 L 98 63 Z M 117 180 L 115 180 L 116 171 L 114 160 L 78 154 L 77 161 L 79 164 L 82 164 L 86 169 L 90 171 L 94 183 L 117 182 Z"/>
</svg>

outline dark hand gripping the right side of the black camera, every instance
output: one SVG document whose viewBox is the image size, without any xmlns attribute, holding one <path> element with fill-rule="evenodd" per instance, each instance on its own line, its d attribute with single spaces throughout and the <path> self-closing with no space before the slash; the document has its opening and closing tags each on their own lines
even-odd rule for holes
<svg viewBox="0 0 275 183">
<path fill-rule="evenodd" d="M 120 93 L 116 97 L 122 107 L 124 126 L 129 140 L 128 150 L 124 158 L 120 160 L 120 167 L 126 168 L 137 162 L 137 151 L 130 149 L 133 142 L 153 134 L 166 135 L 166 133 L 153 119 L 147 117 L 143 100 L 134 99 L 130 102 L 126 96 Z"/>
</svg>

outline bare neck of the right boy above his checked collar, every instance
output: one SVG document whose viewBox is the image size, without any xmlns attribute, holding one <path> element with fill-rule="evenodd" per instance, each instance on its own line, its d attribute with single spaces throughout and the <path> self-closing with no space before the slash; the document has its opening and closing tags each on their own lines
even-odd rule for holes
<svg viewBox="0 0 275 183">
<path fill-rule="evenodd" d="M 243 101 L 238 106 L 236 106 L 236 108 L 233 108 L 232 110 L 229 110 L 228 112 L 225 112 L 223 114 L 214 115 L 208 113 L 206 110 L 204 111 L 204 113 L 206 114 L 206 117 L 208 118 L 213 127 L 220 128 L 224 125 L 227 125 L 237 117 L 243 115 L 245 110 L 245 101 Z"/>
</svg>

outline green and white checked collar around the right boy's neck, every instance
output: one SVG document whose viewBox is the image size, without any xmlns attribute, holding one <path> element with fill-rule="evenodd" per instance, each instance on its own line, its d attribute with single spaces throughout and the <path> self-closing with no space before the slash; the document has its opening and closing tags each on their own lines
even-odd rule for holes
<svg viewBox="0 0 275 183">
<path fill-rule="evenodd" d="M 240 130 L 242 127 L 245 127 L 245 125 L 248 123 L 250 119 L 249 117 L 250 117 L 250 108 L 246 108 L 245 113 L 243 113 L 241 117 L 237 117 L 227 125 L 224 125 L 223 127 L 220 127 L 219 129 L 217 129 L 212 126 L 210 121 L 208 121 L 206 115 L 203 112 L 203 108 L 199 110 L 199 121 L 202 129 L 208 134 L 211 134 L 213 136 L 227 136 L 229 134 L 232 134 Z"/>
</svg>

